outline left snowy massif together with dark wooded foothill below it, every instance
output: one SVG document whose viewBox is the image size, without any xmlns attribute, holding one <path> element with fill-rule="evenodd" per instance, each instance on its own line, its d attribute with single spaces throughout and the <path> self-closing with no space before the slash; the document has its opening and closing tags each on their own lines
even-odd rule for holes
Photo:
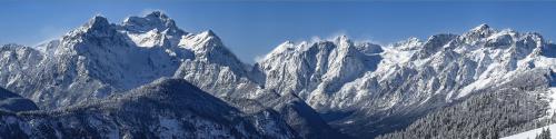
<svg viewBox="0 0 556 139">
<path fill-rule="evenodd" d="M 212 31 L 182 31 L 159 11 L 129 17 L 121 24 L 96 16 L 58 40 L 37 48 L 6 44 L 0 52 L 0 85 L 41 108 L 24 115 L 3 112 L 0 132 L 12 133 L 9 137 L 344 137 L 296 95 L 265 91 L 254 81 L 252 68 Z M 175 96 L 197 92 L 189 83 L 163 83 L 167 89 L 161 91 L 171 92 L 153 90 L 149 96 L 132 90 L 172 77 L 218 99 Z M 152 127 L 143 121 L 152 121 Z"/>
</svg>

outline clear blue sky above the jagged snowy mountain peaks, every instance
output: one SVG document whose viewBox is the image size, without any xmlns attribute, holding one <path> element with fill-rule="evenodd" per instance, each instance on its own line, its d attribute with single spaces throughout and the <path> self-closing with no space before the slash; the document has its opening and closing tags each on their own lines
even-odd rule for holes
<svg viewBox="0 0 556 139">
<path fill-rule="evenodd" d="M 188 32 L 214 30 L 241 60 L 254 62 L 277 44 L 348 34 L 389 43 L 461 33 L 480 23 L 536 31 L 556 40 L 556 2 L 514 1 L 0 1 L 0 43 L 34 46 L 95 14 L 111 22 L 162 10 Z"/>
</svg>

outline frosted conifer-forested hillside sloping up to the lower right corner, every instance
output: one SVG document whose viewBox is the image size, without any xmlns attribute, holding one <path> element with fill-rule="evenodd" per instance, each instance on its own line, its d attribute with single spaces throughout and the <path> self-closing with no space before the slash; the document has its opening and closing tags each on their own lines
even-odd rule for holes
<svg viewBox="0 0 556 139">
<path fill-rule="evenodd" d="M 405 130 L 379 139 L 497 139 L 550 123 L 546 86 L 550 78 L 538 71 L 431 112 Z M 548 79 L 548 80 L 547 80 Z"/>
</svg>

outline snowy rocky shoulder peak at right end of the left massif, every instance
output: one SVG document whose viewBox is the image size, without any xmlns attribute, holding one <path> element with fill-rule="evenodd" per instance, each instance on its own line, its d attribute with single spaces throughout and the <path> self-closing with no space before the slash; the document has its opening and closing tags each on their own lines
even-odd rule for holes
<svg viewBox="0 0 556 139">
<path fill-rule="evenodd" d="M 185 78 L 199 88 L 219 97 L 260 97 L 261 88 L 252 78 L 255 72 L 229 51 L 212 31 L 183 36 L 180 48 L 191 50 L 173 77 Z"/>
</svg>

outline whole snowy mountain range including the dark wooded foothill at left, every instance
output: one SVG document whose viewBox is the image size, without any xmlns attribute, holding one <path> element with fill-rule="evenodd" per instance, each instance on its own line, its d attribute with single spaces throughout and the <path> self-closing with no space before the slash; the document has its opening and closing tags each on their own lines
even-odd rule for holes
<svg viewBox="0 0 556 139">
<path fill-rule="evenodd" d="M 373 138 L 504 89 L 548 103 L 535 120 L 556 109 L 556 44 L 487 24 L 388 46 L 286 41 L 247 64 L 214 31 L 183 31 L 155 11 L 122 23 L 96 16 L 0 53 L 0 87 L 40 108 L 3 112 L 10 137 Z"/>
</svg>

